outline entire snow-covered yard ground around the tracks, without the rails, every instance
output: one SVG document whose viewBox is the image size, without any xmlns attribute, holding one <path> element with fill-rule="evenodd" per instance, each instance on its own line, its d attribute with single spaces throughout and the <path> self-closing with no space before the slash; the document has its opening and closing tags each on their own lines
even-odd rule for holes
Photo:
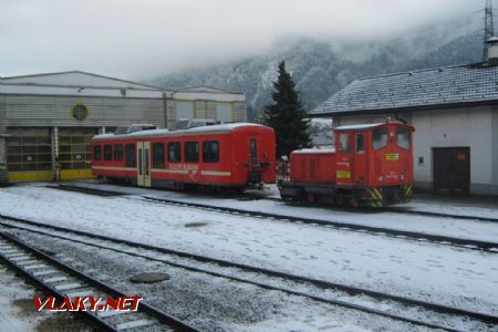
<svg viewBox="0 0 498 332">
<path fill-rule="evenodd" d="M 187 193 L 103 186 L 96 183 L 79 185 L 113 189 L 122 195 L 104 197 L 63 191 L 50 188 L 48 184 L 18 185 L 0 191 L 0 214 L 450 305 L 491 317 L 498 315 L 495 292 L 498 287 L 496 252 L 346 229 L 227 215 L 188 206 L 164 205 L 145 200 L 144 196 L 282 215 L 312 216 L 323 220 L 369 224 L 401 230 L 424 229 L 427 234 L 478 240 L 496 239 L 498 222 L 387 211 L 338 210 L 330 207 L 309 208 L 289 206 L 278 200 L 204 197 Z M 446 208 L 423 200 L 415 200 L 413 206 L 425 210 L 452 209 L 461 215 L 474 214 L 480 217 L 490 217 L 498 212 L 498 208 L 494 209 L 492 205 L 458 205 L 458 200 L 447 203 Z M 29 242 L 37 242 L 34 236 L 20 236 Z M 383 317 L 311 303 L 299 297 L 262 291 L 253 286 L 226 286 L 219 278 L 200 278 L 198 273 L 179 271 L 157 262 L 141 261 L 92 247 L 64 243 L 63 240 L 51 239 L 44 245 L 38 241 L 38 246 L 46 247 L 44 249 L 52 252 L 73 252 L 69 255 L 69 260 L 76 261 L 80 268 L 93 268 L 97 271 L 96 276 L 103 279 L 114 276 L 111 279 L 115 287 L 144 293 L 145 301 L 148 297 L 153 302 L 169 305 L 176 314 L 201 330 L 257 331 L 298 328 L 342 331 L 344 326 L 352 331 L 415 329 L 411 324 Z M 108 271 L 103 272 L 102 267 L 107 267 Z M 131 288 L 127 279 L 132 273 L 141 271 L 166 272 L 172 279 L 154 286 L 154 292 L 151 289 L 144 291 L 137 287 Z M 172 284 L 175 284 L 173 289 Z M 385 304 L 380 305 L 382 310 L 386 310 L 382 308 Z M 11 307 L 15 312 L 15 307 Z M 273 309 L 267 311 L 266 308 Z M 492 324 L 487 328 L 476 326 L 484 329 L 483 331 L 490 326 L 492 329 Z M 454 328 L 468 329 L 458 324 L 454 324 Z M 496 329 L 496 325 L 494 328 Z"/>
</svg>

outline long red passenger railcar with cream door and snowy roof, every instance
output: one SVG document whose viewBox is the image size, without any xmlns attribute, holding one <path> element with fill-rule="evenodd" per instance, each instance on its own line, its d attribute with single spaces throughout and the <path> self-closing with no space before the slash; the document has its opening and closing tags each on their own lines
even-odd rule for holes
<svg viewBox="0 0 498 332">
<path fill-rule="evenodd" d="M 145 187 L 273 184 L 274 142 L 272 128 L 249 123 L 102 134 L 92 139 L 92 170 Z"/>
</svg>

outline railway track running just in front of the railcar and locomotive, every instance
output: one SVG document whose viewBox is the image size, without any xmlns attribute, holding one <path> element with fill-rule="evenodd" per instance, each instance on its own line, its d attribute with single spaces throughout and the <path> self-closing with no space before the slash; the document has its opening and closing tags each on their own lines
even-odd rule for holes
<svg viewBox="0 0 498 332">
<path fill-rule="evenodd" d="M 77 187 L 77 186 L 66 186 L 66 185 L 53 186 L 53 188 L 69 190 L 69 191 L 85 193 L 85 194 L 90 194 L 90 195 L 100 195 L 100 196 L 102 196 L 102 195 L 105 195 L 105 196 L 124 195 L 123 193 L 117 193 L 117 191 L 102 190 L 102 189 L 86 188 L 86 187 Z M 175 206 L 183 206 L 183 207 L 193 207 L 193 208 L 224 212 L 224 214 L 229 214 L 229 215 L 247 216 L 247 217 L 256 217 L 256 218 L 267 218 L 267 219 L 278 220 L 278 221 L 283 221 L 283 222 L 305 224 L 305 225 L 321 226 L 321 227 L 326 227 L 326 228 L 335 228 L 335 229 L 340 229 L 340 230 L 355 231 L 355 232 L 362 232 L 362 234 L 367 232 L 367 234 L 372 234 L 372 235 L 376 235 L 376 236 L 392 237 L 392 238 L 397 238 L 397 239 L 407 239 L 407 240 L 413 240 L 413 241 L 417 241 L 417 242 L 426 241 L 426 242 L 432 242 L 432 243 L 436 243 L 436 245 L 453 246 L 453 247 L 465 248 L 465 249 L 469 249 L 469 250 L 479 250 L 479 251 L 498 253 L 498 242 L 473 240 L 473 239 L 465 239 L 465 238 L 455 238 L 455 237 L 447 237 L 447 236 L 440 236 L 440 235 L 430 235 L 430 234 L 417 232 L 417 231 L 397 230 L 397 229 L 392 229 L 392 228 L 357 225 L 357 224 L 351 224 L 351 222 L 297 217 L 297 216 L 290 216 L 290 215 L 282 216 L 282 215 L 272 214 L 272 212 L 253 211 L 253 210 L 246 210 L 246 209 L 230 208 L 230 207 L 222 207 L 222 206 L 211 206 L 211 205 L 206 205 L 206 204 L 200 204 L 200 203 L 190 203 L 190 201 L 178 200 L 178 199 L 168 199 L 168 198 L 157 198 L 157 197 L 152 197 L 152 196 L 146 196 L 146 195 L 142 195 L 141 197 L 148 201 L 155 201 L 155 203 L 168 204 L 168 205 L 175 205 Z M 281 199 L 278 199 L 278 200 L 281 201 Z M 391 211 L 391 210 L 388 210 L 388 211 Z"/>
</svg>

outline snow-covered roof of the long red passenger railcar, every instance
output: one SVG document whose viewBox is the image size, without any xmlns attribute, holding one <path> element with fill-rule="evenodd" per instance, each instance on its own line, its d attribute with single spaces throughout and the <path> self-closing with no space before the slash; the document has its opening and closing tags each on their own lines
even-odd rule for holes
<svg viewBox="0 0 498 332">
<path fill-rule="evenodd" d="M 141 131 L 131 134 L 100 134 L 93 136 L 93 139 L 110 139 L 110 138 L 127 138 L 127 137 L 153 137 L 153 136 L 179 136 L 179 135 L 193 135 L 193 134 L 224 134 L 230 133 L 238 128 L 246 127 L 261 127 L 261 128 L 270 128 L 260 124 L 255 123 L 230 123 L 230 124 L 219 124 L 219 125 L 209 125 L 209 126 L 199 126 L 188 129 L 178 129 L 178 131 L 169 131 L 169 129 L 151 129 L 151 131 Z"/>
</svg>

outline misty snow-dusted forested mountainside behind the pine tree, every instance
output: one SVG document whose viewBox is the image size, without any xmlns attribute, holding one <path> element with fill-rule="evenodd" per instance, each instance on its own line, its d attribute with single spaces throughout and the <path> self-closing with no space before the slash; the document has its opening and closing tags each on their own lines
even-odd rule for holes
<svg viewBox="0 0 498 332">
<path fill-rule="evenodd" d="M 269 102 L 277 64 L 284 60 L 304 107 L 312 110 L 359 77 L 480 61 L 480 25 L 481 17 L 473 14 L 384 40 L 331 43 L 312 38 L 287 39 L 261 56 L 148 82 L 169 89 L 210 85 L 243 92 L 248 107 L 257 113 Z"/>
</svg>

